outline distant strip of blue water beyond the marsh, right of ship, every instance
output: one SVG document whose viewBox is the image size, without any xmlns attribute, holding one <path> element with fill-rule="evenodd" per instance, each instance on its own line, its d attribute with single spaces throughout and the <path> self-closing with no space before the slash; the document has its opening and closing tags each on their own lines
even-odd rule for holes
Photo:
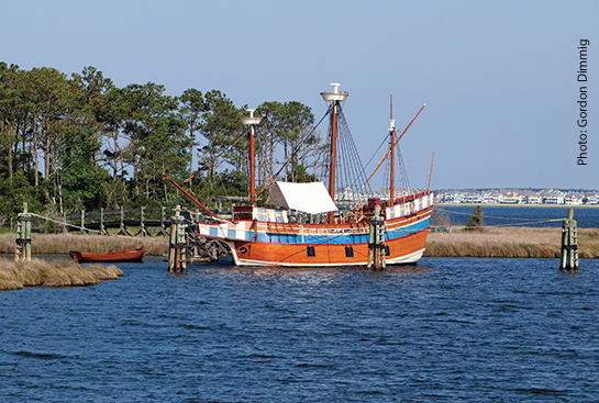
<svg viewBox="0 0 599 403">
<path fill-rule="evenodd" d="M 532 227 L 562 227 L 562 221 L 568 217 L 567 208 L 506 208 L 489 206 L 482 208 L 482 220 L 486 225 L 492 226 L 532 226 Z M 474 214 L 474 206 L 442 205 L 436 210 L 447 214 L 455 225 L 466 225 L 470 215 Z M 599 208 L 574 208 L 574 220 L 580 228 L 599 227 Z"/>
</svg>

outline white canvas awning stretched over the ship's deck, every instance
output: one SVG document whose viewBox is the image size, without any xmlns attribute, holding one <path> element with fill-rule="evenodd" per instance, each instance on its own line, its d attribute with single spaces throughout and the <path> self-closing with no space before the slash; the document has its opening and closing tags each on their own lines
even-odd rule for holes
<svg viewBox="0 0 599 403">
<path fill-rule="evenodd" d="M 310 214 L 337 211 L 323 182 L 275 182 L 270 187 L 270 195 L 266 203 Z"/>
</svg>

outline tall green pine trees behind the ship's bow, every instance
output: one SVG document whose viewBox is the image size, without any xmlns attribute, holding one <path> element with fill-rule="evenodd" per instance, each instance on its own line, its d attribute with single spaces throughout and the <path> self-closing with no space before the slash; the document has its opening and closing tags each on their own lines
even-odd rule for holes
<svg viewBox="0 0 599 403">
<path fill-rule="evenodd" d="M 67 77 L 0 63 L 0 214 L 15 215 L 23 202 L 55 214 L 185 204 L 162 172 L 206 203 L 246 195 L 245 109 L 219 90 L 173 97 L 154 82 L 119 88 L 91 66 Z M 284 177 L 313 180 L 326 145 L 311 109 L 269 101 L 257 113 L 257 184 L 268 186 L 289 157 Z"/>
</svg>

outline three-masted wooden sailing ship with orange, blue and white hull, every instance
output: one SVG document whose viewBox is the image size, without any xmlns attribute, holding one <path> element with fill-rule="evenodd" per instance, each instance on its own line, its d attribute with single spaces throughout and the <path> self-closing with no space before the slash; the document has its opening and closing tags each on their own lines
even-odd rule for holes
<svg viewBox="0 0 599 403">
<path fill-rule="evenodd" d="M 342 186 L 335 175 L 340 163 L 350 159 L 340 149 L 341 137 L 348 131 L 343 114 L 348 94 L 339 90 L 339 83 L 331 86 L 332 92 L 321 92 L 329 107 L 325 114 L 330 123 L 328 180 L 308 183 L 274 181 L 266 201 L 266 205 L 274 208 L 257 205 L 254 136 L 262 117 L 255 116 L 255 110 L 249 109 L 249 115 L 242 117 L 249 137 L 247 205 L 236 205 L 229 217 L 219 217 L 191 197 L 209 219 L 196 224 L 197 236 L 220 242 L 229 250 L 234 265 L 382 269 L 387 265 L 417 264 L 422 257 L 433 210 L 431 176 L 426 190 L 399 197 L 395 191 L 396 145 L 418 114 L 397 136 L 391 96 L 391 126 L 386 134 L 389 136 L 389 150 L 384 158 L 390 160 L 390 183 L 387 200 L 381 200 L 376 192 L 366 189 L 373 176 L 364 180 L 366 175 L 362 168 L 356 168 L 360 163 L 355 157 L 345 163 L 360 173 L 362 179 Z"/>
</svg>

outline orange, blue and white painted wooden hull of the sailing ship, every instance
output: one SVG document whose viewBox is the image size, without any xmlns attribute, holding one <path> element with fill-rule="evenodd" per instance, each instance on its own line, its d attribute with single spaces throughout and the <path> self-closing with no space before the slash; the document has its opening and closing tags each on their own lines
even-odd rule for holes
<svg viewBox="0 0 599 403">
<path fill-rule="evenodd" d="M 387 265 L 415 264 L 424 253 L 432 213 L 432 192 L 415 194 L 385 209 Z M 257 215 L 280 211 L 255 208 Z M 396 215 L 397 214 L 397 215 Z M 393 217 L 391 217 L 393 216 Z M 220 239 L 237 266 L 367 266 L 368 221 L 347 224 L 300 224 L 285 220 L 240 220 L 198 224 L 198 235 Z"/>
</svg>

